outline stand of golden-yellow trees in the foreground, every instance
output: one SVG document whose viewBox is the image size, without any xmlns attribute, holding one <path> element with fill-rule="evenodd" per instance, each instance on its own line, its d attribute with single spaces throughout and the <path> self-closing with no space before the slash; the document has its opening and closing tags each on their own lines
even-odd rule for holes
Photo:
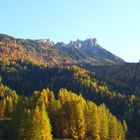
<svg viewBox="0 0 140 140">
<path fill-rule="evenodd" d="M 60 89 L 57 99 L 49 89 L 34 91 L 30 97 L 0 85 L 1 139 L 51 140 L 73 138 L 124 140 L 126 122 L 120 122 L 105 104 L 97 106 L 81 95 Z M 12 125 L 12 128 L 11 126 Z"/>
</svg>

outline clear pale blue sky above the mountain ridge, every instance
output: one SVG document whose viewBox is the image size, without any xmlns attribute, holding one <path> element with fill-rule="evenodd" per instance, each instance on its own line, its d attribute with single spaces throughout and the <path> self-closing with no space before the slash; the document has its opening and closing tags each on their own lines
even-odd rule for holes
<svg viewBox="0 0 140 140">
<path fill-rule="evenodd" d="M 97 38 L 127 62 L 140 60 L 140 0 L 0 0 L 0 33 L 54 42 Z"/>
</svg>

